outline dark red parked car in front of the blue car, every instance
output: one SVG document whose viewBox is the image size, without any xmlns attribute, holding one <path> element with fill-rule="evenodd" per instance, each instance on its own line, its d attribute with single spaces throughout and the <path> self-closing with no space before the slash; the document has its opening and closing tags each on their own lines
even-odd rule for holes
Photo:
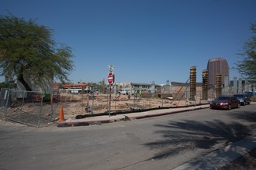
<svg viewBox="0 0 256 170">
<path fill-rule="evenodd" d="M 211 109 L 228 109 L 231 110 L 232 108 L 239 108 L 240 107 L 240 100 L 237 97 L 230 97 L 230 96 L 222 96 L 217 97 L 215 100 L 209 103 L 209 107 Z"/>
</svg>

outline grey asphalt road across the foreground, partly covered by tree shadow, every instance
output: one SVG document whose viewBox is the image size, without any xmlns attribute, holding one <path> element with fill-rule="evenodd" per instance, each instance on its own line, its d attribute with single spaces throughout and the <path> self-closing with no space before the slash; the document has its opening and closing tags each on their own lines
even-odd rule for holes
<svg viewBox="0 0 256 170">
<path fill-rule="evenodd" d="M 0 121 L 0 169 L 172 169 L 256 133 L 256 104 L 85 127 Z"/>
</svg>

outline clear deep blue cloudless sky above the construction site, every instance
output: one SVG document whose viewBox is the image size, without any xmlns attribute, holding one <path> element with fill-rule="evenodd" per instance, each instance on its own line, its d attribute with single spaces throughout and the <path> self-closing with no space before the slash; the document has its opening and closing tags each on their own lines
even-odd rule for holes
<svg viewBox="0 0 256 170">
<path fill-rule="evenodd" d="M 36 19 L 73 49 L 72 83 L 197 81 L 211 58 L 223 57 L 230 79 L 256 22 L 255 0 L 0 0 L 0 13 Z"/>
</svg>

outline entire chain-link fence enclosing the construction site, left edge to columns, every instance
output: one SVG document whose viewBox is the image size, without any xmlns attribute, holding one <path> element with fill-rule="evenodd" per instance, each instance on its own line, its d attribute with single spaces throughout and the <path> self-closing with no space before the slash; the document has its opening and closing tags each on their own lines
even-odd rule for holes
<svg viewBox="0 0 256 170">
<path fill-rule="evenodd" d="M 214 98 L 214 90 L 209 90 L 209 98 Z M 189 90 L 151 93 L 137 91 L 133 94 L 112 91 L 93 93 L 68 93 L 57 90 L 52 94 L 21 90 L 2 89 L 0 111 L 5 118 L 35 127 L 45 126 L 56 121 L 63 106 L 66 119 L 84 114 L 115 114 L 133 110 L 147 110 L 163 107 L 184 107 L 194 104 L 207 104 L 202 101 L 202 92 L 196 91 L 194 101 L 189 101 Z"/>
</svg>

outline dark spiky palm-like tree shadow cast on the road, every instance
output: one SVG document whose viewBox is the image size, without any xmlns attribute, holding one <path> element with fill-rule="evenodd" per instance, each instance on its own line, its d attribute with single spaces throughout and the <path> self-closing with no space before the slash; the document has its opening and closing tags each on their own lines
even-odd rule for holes
<svg viewBox="0 0 256 170">
<path fill-rule="evenodd" d="M 168 124 L 155 124 L 161 131 L 156 131 L 162 136 L 161 140 L 145 143 L 157 153 L 153 159 L 165 159 L 175 155 L 184 154 L 186 151 L 196 149 L 215 149 L 218 145 L 228 145 L 239 141 L 250 134 L 250 129 L 244 124 L 223 121 L 170 121 Z"/>
</svg>

